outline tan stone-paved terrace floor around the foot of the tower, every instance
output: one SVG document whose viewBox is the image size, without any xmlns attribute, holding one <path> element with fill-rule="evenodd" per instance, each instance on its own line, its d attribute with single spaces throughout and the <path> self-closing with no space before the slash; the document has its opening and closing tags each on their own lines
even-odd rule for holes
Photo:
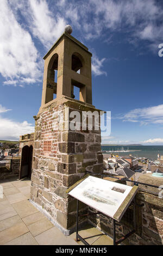
<svg viewBox="0 0 163 256">
<path fill-rule="evenodd" d="M 0 245 L 83 245 L 76 233 L 65 236 L 30 202 L 30 180 L 8 180 L 0 198 Z M 79 234 L 90 245 L 112 245 L 112 239 L 91 225 Z"/>
</svg>

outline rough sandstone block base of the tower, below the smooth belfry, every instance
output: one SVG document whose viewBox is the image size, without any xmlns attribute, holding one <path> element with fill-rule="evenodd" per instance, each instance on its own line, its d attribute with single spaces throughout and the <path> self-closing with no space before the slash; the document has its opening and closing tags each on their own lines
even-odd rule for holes
<svg viewBox="0 0 163 256">
<path fill-rule="evenodd" d="M 76 223 L 76 200 L 67 196 L 67 188 L 80 180 L 86 170 L 94 173 L 103 170 L 101 131 L 68 130 L 68 107 L 70 111 L 80 107 L 81 111 L 80 103 L 67 101 L 60 105 L 52 103 L 35 117 L 31 187 L 32 201 L 64 229 L 71 229 Z M 49 151 L 47 144 L 51 145 Z M 82 203 L 79 209 L 87 212 Z"/>
</svg>

